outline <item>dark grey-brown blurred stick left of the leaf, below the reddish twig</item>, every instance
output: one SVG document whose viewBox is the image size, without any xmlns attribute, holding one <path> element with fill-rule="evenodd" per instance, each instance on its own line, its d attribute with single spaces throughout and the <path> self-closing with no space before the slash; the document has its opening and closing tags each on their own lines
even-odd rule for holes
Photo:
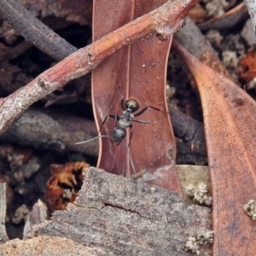
<svg viewBox="0 0 256 256">
<path fill-rule="evenodd" d="M 72 150 L 96 156 L 98 143 L 76 145 L 91 137 L 96 137 L 93 121 L 66 114 L 43 113 L 28 109 L 0 137 L 0 142 L 18 143 L 22 146 L 44 148 L 53 151 Z"/>
</svg>

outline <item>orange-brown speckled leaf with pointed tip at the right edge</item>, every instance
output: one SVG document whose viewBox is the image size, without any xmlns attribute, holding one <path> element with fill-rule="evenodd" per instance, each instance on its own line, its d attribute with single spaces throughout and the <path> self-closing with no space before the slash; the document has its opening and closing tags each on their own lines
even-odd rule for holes
<svg viewBox="0 0 256 256">
<path fill-rule="evenodd" d="M 213 255 L 255 255 L 256 223 L 243 211 L 256 197 L 256 103 L 229 79 L 176 45 L 201 95 L 213 195 Z"/>
</svg>

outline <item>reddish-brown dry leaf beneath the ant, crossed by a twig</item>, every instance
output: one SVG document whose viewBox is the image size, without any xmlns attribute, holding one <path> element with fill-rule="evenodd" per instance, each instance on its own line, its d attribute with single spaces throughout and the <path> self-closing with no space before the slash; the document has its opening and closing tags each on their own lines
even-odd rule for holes
<svg viewBox="0 0 256 256">
<path fill-rule="evenodd" d="M 94 40 L 165 2 L 116 1 L 110 6 L 108 1 L 96 1 Z M 98 127 L 101 127 L 108 114 L 122 115 L 117 83 L 124 100 L 134 98 L 140 103 L 138 112 L 147 106 L 162 111 L 149 108 L 136 117 L 149 124 L 131 122 L 134 127 L 131 157 L 127 148 L 131 136 L 129 128 L 125 140 L 119 146 L 111 143 L 109 138 L 102 138 L 98 166 L 107 172 L 127 177 L 147 172 L 145 179 L 148 182 L 180 192 L 175 172 L 175 139 L 166 110 L 166 58 L 169 47 L 170 40 L 161 42 L 151 34 L 120 49 L 93 72 L 92 93 Z M 101 134 L 112 136 L 115 125 L 116 121 L 109 118 L 102 125 Z"/>
</svg>

